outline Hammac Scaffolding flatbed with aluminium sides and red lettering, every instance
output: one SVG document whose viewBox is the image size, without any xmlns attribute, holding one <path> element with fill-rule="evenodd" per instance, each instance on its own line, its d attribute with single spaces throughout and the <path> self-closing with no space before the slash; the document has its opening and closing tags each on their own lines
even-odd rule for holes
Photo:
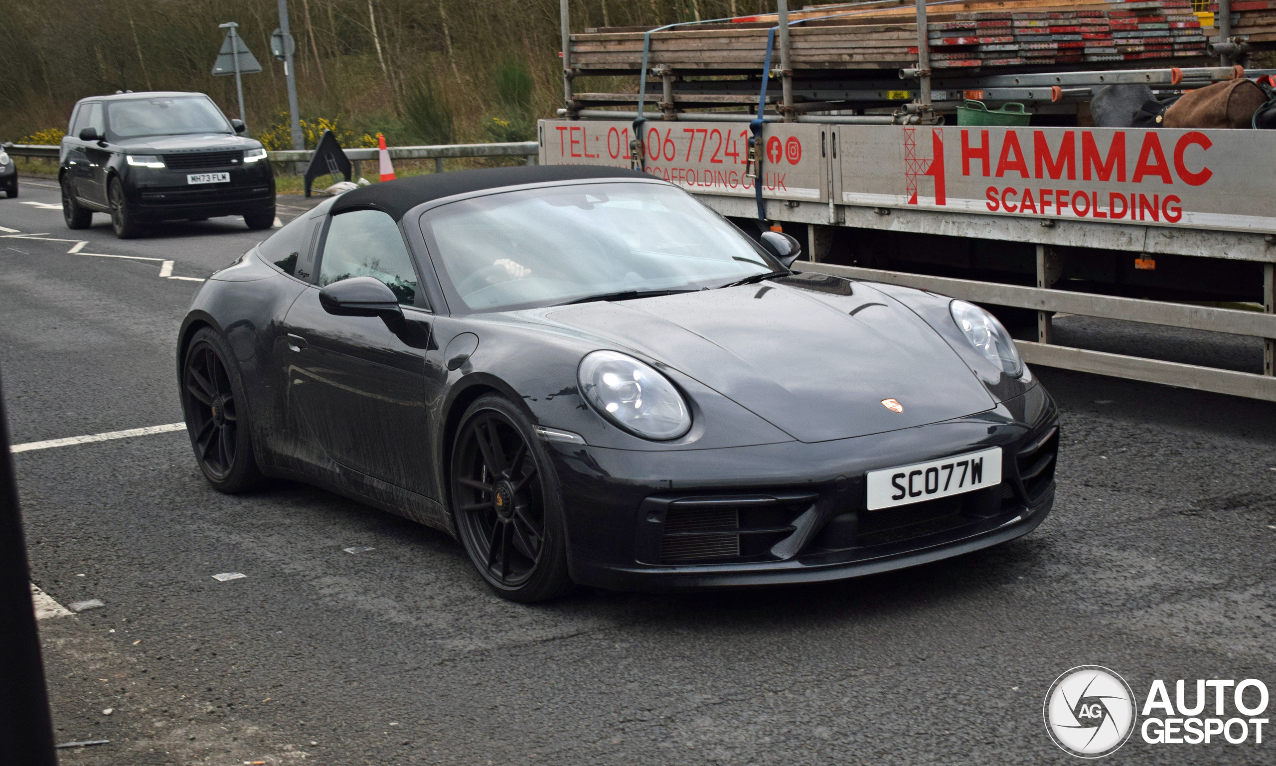
<svg viewBox="0 0 1276 766">
<path fill-rule="evenodd" d="M 1030 364 L 1276 401 L 1276 135 L 1086 126 L 1082 98 L 1062 105 L 1071 115 L 1055 109 L 1040 125 L 944 125 L 926 97 L 943 80 L 928 82 L 924 55 L 897 75 L 914 78 L 914 98 L 902 105 L 799 109 L 795 93 L 803 91 L 781 50 L 781 66 L 766 78 L 771 93 L 754 92 L 749 112 L 680 101 L 676 75 L 649 68 L 633 74 L 660 78 L 658 111 L 587 109 L 574 97 L 581 70 L 572 56 L 590 34 L 570 34 L 567 0 L 563 6 L 565 105 L 560 119 L 538 124 L 541 163 L 639 167 L 746 231 L 781 226 L 800 236 L 803 269 L 1035 313 L 1035 341 L 1018 341 Z M 780 10 L 773 28 L 783 29 L 783 1 Z M 919 1 L 915 28 L 926 28 L 925 10 Z M 1220 36 L 1215 45 L 1236 50 L 1226 42 Z M 925 47 L 923 37 L 923 54 Z M 864 73 L 833 77 L 865 82 Z M 883 79 L 883 71 L 866 77 Z M 983 89 L 1055 88 L 1044 103 L 1058 107 L 1059 91 L 1069 88 L 1113 80 L 1199 87 L 1244 73 L 1224 59 L 1194 68 L 962 77 L 975 78 L 963 86 Z M 796 79 L 804 82 L 800 71 Z M 755 80 L 758 87 L 763 78 Z M 703 92 L 715 80 L 693 82 Z M 749 84 L 726 74 L 718 82 L 730 83 L 720 94 Z M 713 111 L 686 111 L 694 107 Z M 1231 308 L 1236 303 L 1262 310 Z M 1265 338 L 1262 373 L 1057 345 L 1055 313 Z"/>
</svg>

